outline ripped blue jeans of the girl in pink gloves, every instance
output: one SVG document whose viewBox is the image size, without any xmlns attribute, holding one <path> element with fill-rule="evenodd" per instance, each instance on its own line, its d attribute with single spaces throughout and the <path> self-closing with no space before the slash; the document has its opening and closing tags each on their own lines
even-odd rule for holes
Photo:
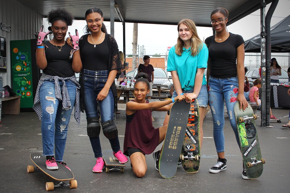
<svg viewBox="0 0 290 193">
<path fill-rule="evenodd" d="M 60 83 L 60 90 L 63 83 Z M 65 80 L 69 100 L 72 107 L 62 109 L 62 101 L 56 99 L 54 80 L 44 81 L 40 86 L 39 100 L 42 109 L 42 144 L 43 155 L 54 155 L 56 161 L 63 161 L 64 148 L 68 133 L 68 123 L 76 100 L 77 85 L 70 80 Z"/>
</svg>

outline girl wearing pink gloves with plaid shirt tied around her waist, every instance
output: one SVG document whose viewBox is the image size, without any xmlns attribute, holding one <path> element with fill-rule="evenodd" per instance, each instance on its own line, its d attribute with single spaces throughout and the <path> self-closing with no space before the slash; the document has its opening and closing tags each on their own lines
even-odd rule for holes
<svg viewBox="0 0 290 193">
<path fill-rule="evenodd" d="M 75 73 L 80 72 L 81 62 L 75 57 L 70 58 L 72 48 L 64 40 L 68 26 L 73 23 L 73 16 L 67 10 L 59 8 L 48 13 L 48 22 L 52 25 L 54 37 L 50 41 L 44 41 L 48 32 L 42 31 L 43 26 L 41 27 L 35 54 L 36 65 L 43 70 L 43 74 L 38 83 L 33 109 L 42 120 L 46 167 L 55 170 L 58 169 L 56 162 L 67 167 L 63 162 L 63 155 L 73 107 L 75 119 L 80 123 L 80 85 Z M 75 50 L 75 54 L 79 54 L 79 50 Z"/>
</svg>

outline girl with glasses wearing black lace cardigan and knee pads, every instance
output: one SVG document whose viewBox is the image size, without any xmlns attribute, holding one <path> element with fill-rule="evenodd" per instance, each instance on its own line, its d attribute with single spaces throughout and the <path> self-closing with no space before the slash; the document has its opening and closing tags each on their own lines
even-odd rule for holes
<svg viewBox="0 0 290 193">
<path fill-rule="evenodd" d="M 93 7 L 85 12 L 86 33 L 79 40 L 83 68 L 80 73 L 81 110 L 85 110 L 87 133 L 97 158 L 93 172 L 102 172 L 104 161 L 100 142 L 100 130 L 109 139 L 112 153 L 120 163 L 128 159 L 120 151 L 118 130 L 114 122 L 114 100 L 117 97 L 114 79 L 117 70 L 123 68 L 115 38 L 107 34 L 102 10 Z M 69 42 L 70 39 L 67 39 Z M 100 114 L 98 113 L 98 109 Z M 101 125 L 99 118 L 101 116 Z"/>
</svg>

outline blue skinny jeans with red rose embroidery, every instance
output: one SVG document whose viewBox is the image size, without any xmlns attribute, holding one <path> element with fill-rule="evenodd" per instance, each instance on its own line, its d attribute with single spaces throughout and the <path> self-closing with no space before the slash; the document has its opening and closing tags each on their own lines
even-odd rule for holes
<svg viewBox="0 0 290 193">
<path fill-rule="evenodd" d="M 213 139 L 217 153 L 225 151 L 224 137 L 224 103 L 230 119 L 230 125 L 239 143 L 238 130 L 234 115 L 234 105 L 238 97 L 238 78 L 214 78 L 209 77 L 208 83 L 209 106 L 213 116 Z"/>
</svg>

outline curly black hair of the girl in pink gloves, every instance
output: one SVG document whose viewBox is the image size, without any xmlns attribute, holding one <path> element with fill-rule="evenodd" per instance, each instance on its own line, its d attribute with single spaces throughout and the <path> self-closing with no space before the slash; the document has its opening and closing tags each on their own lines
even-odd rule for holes
<svg viewBox="0 0 290 193">
<path fill-rule="evenodd" d="M 73 15 L 63 8 L 51 10 L 47 16 L 47 21 L 51 24 L 55 21 L 61 20 L 64 21 L 68 26 L 71 26 L 73 24 L 73 19 Z"/>
</svg>

